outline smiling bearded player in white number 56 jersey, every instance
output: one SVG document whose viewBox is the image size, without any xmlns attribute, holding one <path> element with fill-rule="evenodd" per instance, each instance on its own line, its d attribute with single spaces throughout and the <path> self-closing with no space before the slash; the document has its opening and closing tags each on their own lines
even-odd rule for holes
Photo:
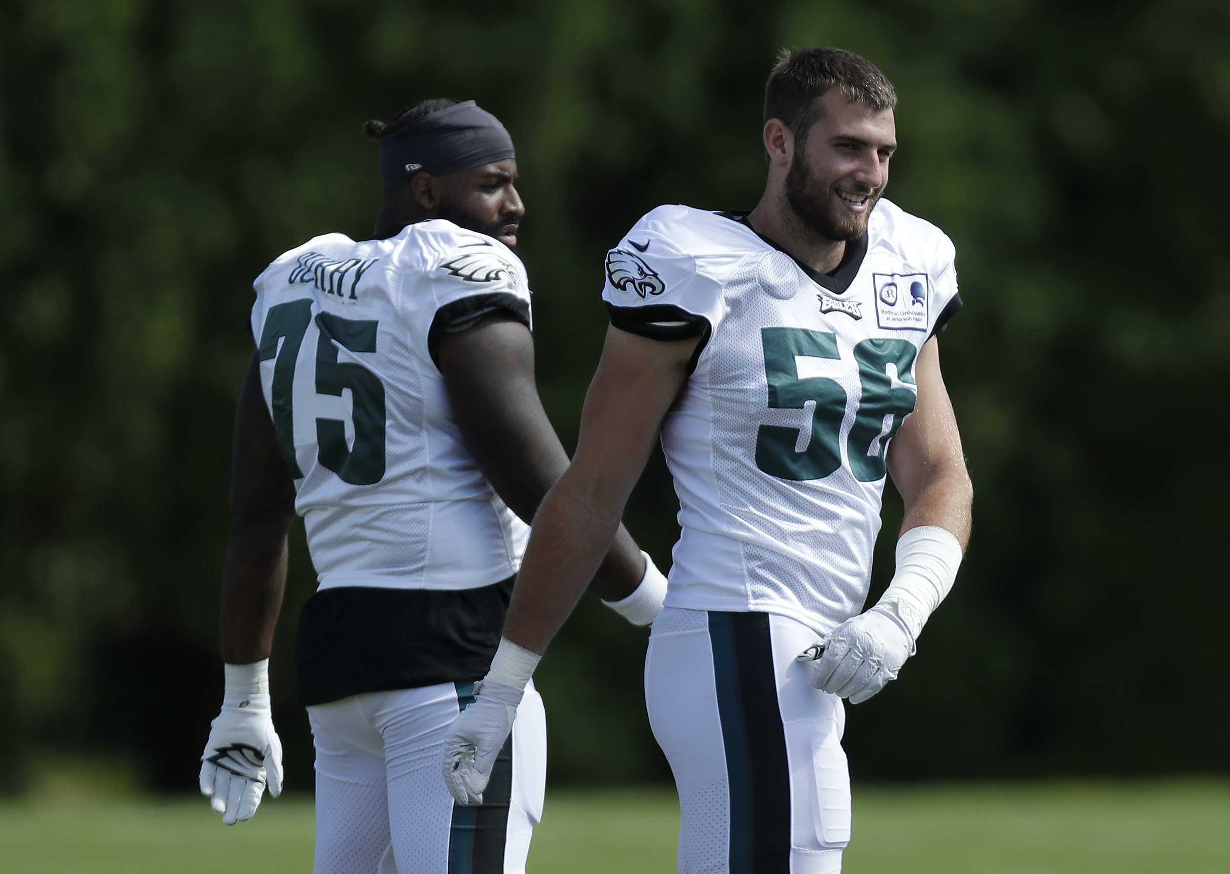
<svg viewBox="0 0 1230 874">
<path fill-rule="evenodd" d="M 661 431 L 683 533 L 646 698 L 679 789 L 679 870 L 840 870 L 841 699 L 876 695 L 914 653 L 973 498 L 936 337 L 961 306 L 953 246 L 882 197 L 895 102 L 859 55 L 784 53 L 759 205 L 659 207 L 608 254 L 611 327 L 579 445 L 445 745 L 459 803 L 481 794 Z M 861 612 L 887 474 L 905 504 L 897 570 Z"/>
</svg>

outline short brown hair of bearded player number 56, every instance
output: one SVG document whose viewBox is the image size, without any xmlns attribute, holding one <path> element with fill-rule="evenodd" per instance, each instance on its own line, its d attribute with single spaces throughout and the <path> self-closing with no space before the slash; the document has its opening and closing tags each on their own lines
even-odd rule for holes
<svg viewBox="0 0 1230 874">
<path fill-rule="evenodd" d="M 806 139 L 823 112 L 820 96 L 831 89 L 877 112 L 897 106 L 893 84 L 866 58 L 831 45 L 787 48 L 765 82 L 765 120 L 777 118 Z"/>
</svg>

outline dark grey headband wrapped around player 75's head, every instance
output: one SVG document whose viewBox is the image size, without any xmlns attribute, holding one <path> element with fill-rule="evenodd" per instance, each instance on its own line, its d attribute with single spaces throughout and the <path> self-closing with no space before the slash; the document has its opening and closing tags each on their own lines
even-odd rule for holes
<svg viewBox="0 0 1230 874">
<path fill-rule="evenodd" d="M 392 188 L 421 170 L 446 176 L 514 155 L 513 138 L 499 119 L 467 100 L 381 136 L 380 176 L 384 187 Z"/>
</svg>

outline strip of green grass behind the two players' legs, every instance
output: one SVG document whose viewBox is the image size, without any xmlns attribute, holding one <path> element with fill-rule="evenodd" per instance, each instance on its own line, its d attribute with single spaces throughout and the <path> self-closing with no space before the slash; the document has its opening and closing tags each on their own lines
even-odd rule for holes
<svg viewBox="0 0 1230 874">
<path fill-rule="evenodd" d="M 556 793 L 529 874 L 668 874 L 669 792 Z M 204 800 L 0 805 L 2 874 L 306 874 L 306 799 L 226 829 Z M 242 864 L 240 864 L 242 862 Z M 847 874 L 1225 874 L 1230 783 L 862 788 Z"/>
</svg>

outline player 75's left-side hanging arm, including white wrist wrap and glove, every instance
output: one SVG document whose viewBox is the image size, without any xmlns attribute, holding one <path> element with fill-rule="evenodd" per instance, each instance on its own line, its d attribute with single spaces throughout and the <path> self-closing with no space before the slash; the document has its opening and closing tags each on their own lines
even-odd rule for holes
<svg viewBox="0 0 1230 874">
<path fill-rule="evenodd" d="M 295 490 L 261 393 L 252 355 L 235 413 L 231 529 L 223 570 L 223 709 L 200 766 L 200 792 L 223 821 L 250 819 L 266 784 L 282 792 L 282 742 L 273 729 L 268 659 L 287 583 L 287 532 Z"/>
</svg>

